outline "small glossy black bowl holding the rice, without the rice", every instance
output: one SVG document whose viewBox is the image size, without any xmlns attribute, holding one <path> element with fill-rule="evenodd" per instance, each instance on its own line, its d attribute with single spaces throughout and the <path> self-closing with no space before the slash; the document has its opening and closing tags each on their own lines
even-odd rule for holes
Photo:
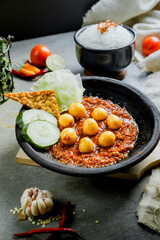
<svg viewBox="0 0 160 240">
<path fill-rule="evenodd" d="M 98 76 L 112 76 L 126 69 L 132 62 L 135 53 L 136 34 L 130 27 L 121 26 L 126 28 L 132 34 L 133 38 L 127 45 L 115 49 L 101 50 L 83 46 L 78 41 L 78 36 L 89 26 L 83 27 L 75 33 L 74 41 L 76 44 L 77 59 L 85 70 L 89 70 Z"/>
</svg>

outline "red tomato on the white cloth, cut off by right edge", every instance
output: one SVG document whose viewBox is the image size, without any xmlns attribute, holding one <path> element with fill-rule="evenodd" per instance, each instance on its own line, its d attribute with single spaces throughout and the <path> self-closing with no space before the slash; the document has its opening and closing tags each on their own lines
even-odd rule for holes
<svg viewBox="0 0 160 240">
<path fill-rule="evenodd" d="M 160 50 L 160 39 L 156 36 L 148 36 L 142 44 L 142 52 L 148 56 L 153 52 Z"/>
</svg>

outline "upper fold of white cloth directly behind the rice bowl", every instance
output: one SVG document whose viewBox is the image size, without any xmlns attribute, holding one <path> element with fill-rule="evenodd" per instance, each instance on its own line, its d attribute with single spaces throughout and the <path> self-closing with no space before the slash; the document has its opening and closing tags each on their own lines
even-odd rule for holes
<svg viewBox="0 0 160 240">
<path fill-rule="evenodd" d="M 158 3 L 159 0 L 100 0 L 83 17 L 83 26 L 107 19 L 124 23 L 150 11 Z"/>
</svg>

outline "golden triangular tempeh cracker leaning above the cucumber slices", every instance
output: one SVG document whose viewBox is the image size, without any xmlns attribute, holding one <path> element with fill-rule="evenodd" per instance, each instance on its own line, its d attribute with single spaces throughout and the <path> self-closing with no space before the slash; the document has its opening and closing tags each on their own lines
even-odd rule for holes
<svg viewBox="0 0 160 240">
<path fill-rule="evenodd" d="M 51 112 L 55 117 L 59 118 L 59 108 L 54 90 L 7 93 L 4 95 L 29 108 Z"/>
</svg>

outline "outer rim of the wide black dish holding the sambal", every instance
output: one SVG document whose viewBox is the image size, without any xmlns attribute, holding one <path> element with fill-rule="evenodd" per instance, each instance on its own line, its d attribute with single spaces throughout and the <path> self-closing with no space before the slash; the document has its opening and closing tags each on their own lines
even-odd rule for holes
<svg viewBox="0 0 160 240">
<path fill-rule="evenodd" d="M 30 144 L 28 144 L 22 138 L 21 129 L 16 125 L 16 129 L 15 129 L 16 137 L 17 137 L 17 141 L 18 141 L 20 147 L 33 161 L 35 161 L 39 165 L 41 165 L 49 170 L 52 170 L 52 171 L 55 171 L 58 173 L 62 173 L 65 175 L 72 175 L 72 176 L 91 176 L 91 175 L 105 175 L 105 174 L 108 175 L 108 174 L 112 174 L 115 172 L 119 172 L 122 169 L 124 170 L 126 168 L 129 168 L 129 167 L 139 163 L 140 161 L 142 161 L 145 157 L 147 157 L 153 151 L 153 149 L 158 144 L 158 141 L 160 138 L 160 131 L 159 131 L 159 129 L 160 129 L 160 114 L 159 114 L 158 109 L 154 105 L 154 103 L 145 94 L 143 94 L 140 90 L 138 90 L 135 87 L 130 86 L 124 82 L 117 81 L 115 79 L 110 79 L 110 78 L 106 78 L 106 77 L 96 77 L 96 76 L 82 77 L 82 81 L 85 81 L 85 80 L 91 80 L 91 81 L 92 80 L 94 80 L 94 81 L 103 80 L 108 83 L 113 83 L 116 85 L 123 86 L 127 90 L 134 92 L 136 95 L 138 93 L 141 100 L 143 102 L 145 102 L 145 104 L 148 106 L 148 108 L 151 109 L 152 114 L 154 116 L 154 120 L 155 120 L 154 132 L 153 132 L 153 135 L 152 135 L 150 141 L 143 148 L 143 151 L 141 152 L 141 154 L 138 155 L 138 158 L 137 158 L 137 156 L 132 156 L 129 159 L 126 159 L 126 160 L 116 163 L 114 165 L 102 167 L 102 168 L 83 168 L 83 167 L 74 167 L 74 166 L 64 165 L 64 164 L 58 162 L 57 160 L 46 157 L 45 155 L 43 155 L 43 157 L 41 157 L 40 152 L 37 152 L 37 150 L 35 150 Z M 23 109 L 24 109 L 24 107 L 22 107 L 20 111 L 23 111 Z"/>
</svg>

